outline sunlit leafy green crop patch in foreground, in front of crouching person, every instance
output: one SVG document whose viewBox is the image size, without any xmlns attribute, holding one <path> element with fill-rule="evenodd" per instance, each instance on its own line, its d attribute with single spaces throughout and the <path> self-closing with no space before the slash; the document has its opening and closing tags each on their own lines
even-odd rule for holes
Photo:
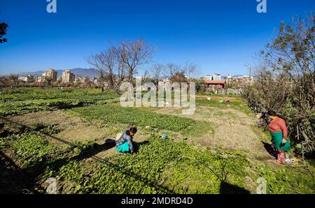
<svg viewBox="0 0 315 208">
<path fill-rule="evenodd" d="M 245 177 L 265 177 L 267 193 L 314 193 L 315 185 L 310 175 L 253 165 L 239 151 L 212 153 L 154 133 L 137 155 L 118 154 L 92 165 L 71 161 L 51 175 L 62 186 L 71 184 L 69 193 L 246 193 Z"/>
</svg>

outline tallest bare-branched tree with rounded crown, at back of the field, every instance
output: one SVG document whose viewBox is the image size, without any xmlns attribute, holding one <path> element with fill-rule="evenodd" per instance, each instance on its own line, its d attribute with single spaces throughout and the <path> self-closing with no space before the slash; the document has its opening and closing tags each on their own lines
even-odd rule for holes
<svg viewBox="0 0 315 208">
<path fill-rule="evenodd" d="M 127 66 L 129 82 L 132 82 L 133 75 L 137 73 L 138 67 L 148 64 L 154 53 L 153 47 L 142 39 L 121 41 L 115 49 L 120 59 Z"/>
</svg>

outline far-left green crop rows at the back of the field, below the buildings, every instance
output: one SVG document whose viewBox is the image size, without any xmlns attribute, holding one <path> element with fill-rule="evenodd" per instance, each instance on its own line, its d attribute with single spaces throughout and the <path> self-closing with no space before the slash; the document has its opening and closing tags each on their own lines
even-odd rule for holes
<svg viewBox="0 0 315 208">
<path fill-rule="evenodd" d="M 0 115 L 113 103 L 118 97 L 111 91 L 101 94 L 94 89 L 6 89 L 0 94 Z"/>
</svg>

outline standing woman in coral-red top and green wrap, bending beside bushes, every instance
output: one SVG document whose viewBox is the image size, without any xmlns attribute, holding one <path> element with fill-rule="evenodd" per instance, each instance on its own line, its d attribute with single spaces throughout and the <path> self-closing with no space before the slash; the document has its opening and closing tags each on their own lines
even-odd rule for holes
<svg viewBox="0 0 315 208">
<path fill-rule="evenodd" d="M 290 151 L 286 121 L 272 110 L 269 110 L 267 114 L 270 119 L 267 123 L 269 132 L 272 135 L 272 149 L 274 149 L 276 153 L 276 161 L 278 163 L 284 163 L 286 152 Z"/>
</svg>

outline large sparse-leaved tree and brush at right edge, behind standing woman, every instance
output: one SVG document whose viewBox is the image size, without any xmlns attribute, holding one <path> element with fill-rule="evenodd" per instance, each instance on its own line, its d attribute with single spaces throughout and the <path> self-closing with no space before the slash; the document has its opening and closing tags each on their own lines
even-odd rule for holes
<svg viewBox="0 0 315 208">
<path fill-rule="evenodd" d="M 293 144 L 302 155 L 315 149 L 315 13 L 281 22 L 279 33 L 261 53 L 257 83 L 247 96 L 283 114 Z"/>
</svg>

